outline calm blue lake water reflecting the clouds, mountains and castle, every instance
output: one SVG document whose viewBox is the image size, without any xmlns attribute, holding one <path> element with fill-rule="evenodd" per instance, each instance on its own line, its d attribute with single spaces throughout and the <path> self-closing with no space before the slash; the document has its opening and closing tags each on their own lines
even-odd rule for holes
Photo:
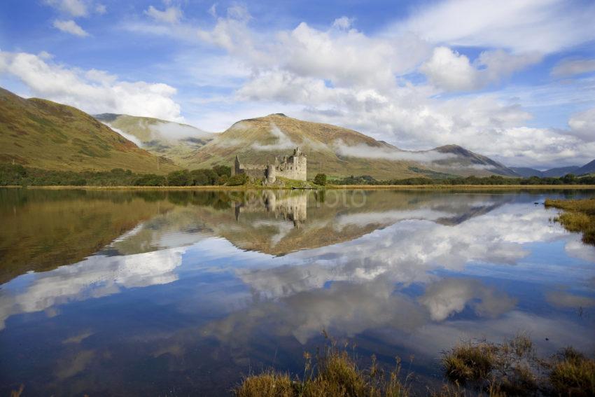
<svg viewBox="0 0 595 397">
<path fill-rule="evenodd" d="M 430 384 L 469 337 L 591 353 L 595 247 L 541 203 L 593 194 L 0 189 L 0 394 L 226 395 L 323 329 Z"/>
</svg>

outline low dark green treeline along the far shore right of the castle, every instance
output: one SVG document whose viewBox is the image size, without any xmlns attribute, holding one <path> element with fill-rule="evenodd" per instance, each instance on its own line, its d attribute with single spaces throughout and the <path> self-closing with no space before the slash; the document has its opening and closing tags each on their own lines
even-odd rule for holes
<svg viewBox="0 0 595 397">
<path fill-rule="evenodd" d="M 506 178 L 504 176 L 466 176 L 451 178 L 407 178 L 379 181 L 369 175 L 348 176 L 330 181 L 335 185 L 594 185 L 595 176 L 575 176 L 568 174 L 560 178 Z"/>
</svg>

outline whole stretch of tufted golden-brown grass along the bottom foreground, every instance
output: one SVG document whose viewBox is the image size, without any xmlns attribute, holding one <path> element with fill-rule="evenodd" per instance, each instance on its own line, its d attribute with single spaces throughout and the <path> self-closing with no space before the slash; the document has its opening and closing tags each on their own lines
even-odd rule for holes
<svg viewBox="0 0 595 397">
<path fill-rule="evenodd" d="M 359 368 L 347 345 L 330 342 L 314 360 L 304 354 L 302 377 L 268 370 L 250 375 L 234 390 L 237 397 L 397 397 L 414 396 L 414 374 L 400 374 L 397 359 L 385 371 L 372 356 Z M 595 361 L 571 347 L 542 358 L 524 335 L 501 344 L 463 342 L 441 358 L 442 388 L 426 387 L 430 396 L 595 396 Z M 423 385 L 422 385 L 423 386 Z M 422 388 L 418 388 L 423 389 Z"/>
</svg>

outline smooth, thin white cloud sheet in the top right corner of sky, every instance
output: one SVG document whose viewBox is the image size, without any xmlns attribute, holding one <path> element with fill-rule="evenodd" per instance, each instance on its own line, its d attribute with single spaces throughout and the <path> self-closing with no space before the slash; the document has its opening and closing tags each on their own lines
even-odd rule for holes
<svg viewBox="0 0 595 397">
<path fill-rule="evenodd" d="M 414 32 L 431 43 L 554 53 L 595 39 L 592 2 L 446 0 L 429 3 L 386 34 Z"/>
</svg>

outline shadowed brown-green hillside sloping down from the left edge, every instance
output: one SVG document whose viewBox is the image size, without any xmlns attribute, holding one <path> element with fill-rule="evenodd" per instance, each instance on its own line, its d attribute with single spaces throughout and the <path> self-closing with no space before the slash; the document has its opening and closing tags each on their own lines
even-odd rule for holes
<svg viewBox="0 0 595 397">
<path fill-rule="evenodd" d="M 158 159 L 87 113 L 0 88 L 0 162 L 59 170 L 171 172 Z"/>
</svg>

